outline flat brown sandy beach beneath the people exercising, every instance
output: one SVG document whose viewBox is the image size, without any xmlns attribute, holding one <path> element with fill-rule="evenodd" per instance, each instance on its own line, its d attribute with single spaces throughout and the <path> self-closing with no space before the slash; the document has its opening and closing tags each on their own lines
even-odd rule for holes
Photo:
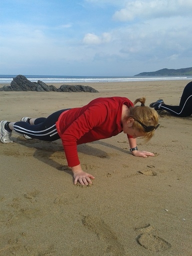
<svg viewBox="0 0 192 256">
<path fill-rule="evenodd" d="M 96 97 L 178 104 L 189 80 L 86 83 L 98 93 L 0 91 L 0 120 L 46 117 Z M 59 87 L 60 84 L 54 84 Z M 2 85 L 1 85 L 2 86 Z M 126 135 L 78 145 L 89 186 L 74 185 L 61 140 L 0 143 L 0 256 L 191 256 L 192 116 L 159 114 L 135 157 Z"/>
</svg>

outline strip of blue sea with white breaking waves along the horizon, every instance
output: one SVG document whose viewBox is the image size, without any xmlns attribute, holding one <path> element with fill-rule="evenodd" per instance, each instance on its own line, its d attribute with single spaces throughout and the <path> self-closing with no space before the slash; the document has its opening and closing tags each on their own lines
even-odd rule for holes
<svg viewBox="0 0 192 256">
<path fill-rule="evenodd" d="M 0 75 L 1 83 L 10 83 L 16 75 Z M 128 82 L 157 80 L 192 80 L 192 76 L 67 76 L 67 75 L 24 75 L 28 80 L 44 83 Z"/>
</svg>

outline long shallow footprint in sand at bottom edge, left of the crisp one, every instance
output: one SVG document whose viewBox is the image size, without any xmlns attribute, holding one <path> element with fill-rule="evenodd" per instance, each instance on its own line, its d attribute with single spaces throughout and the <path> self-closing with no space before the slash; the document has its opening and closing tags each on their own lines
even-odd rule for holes
<svg viewBox="0 0 192 256">
<path fill-rule="evenodd" d="M 124 248 L 118 241 L 116 234 L 102 219 L 93 215 L 87 215 L 82 218 L 82 223 L 84 226 L 88 227 L 88 229 L 96 233 L 98 237 L 101 237 L 106 241 L 107 248 L 105 252 L 114 256 L 125 255 Z"/>
</svg>

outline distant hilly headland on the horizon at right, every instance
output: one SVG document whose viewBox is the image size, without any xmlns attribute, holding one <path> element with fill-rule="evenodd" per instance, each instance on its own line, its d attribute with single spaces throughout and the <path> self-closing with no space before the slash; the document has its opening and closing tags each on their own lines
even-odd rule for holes
<svg viewBox="0 0 192 256">
<path fill-rule="evenodd" d="M 164 76 L 164 75 L 192 75 L 192 67 L 168 69 L 162 68 L 153 72 L 142 72 L 134 76 Z"/>
</svg>

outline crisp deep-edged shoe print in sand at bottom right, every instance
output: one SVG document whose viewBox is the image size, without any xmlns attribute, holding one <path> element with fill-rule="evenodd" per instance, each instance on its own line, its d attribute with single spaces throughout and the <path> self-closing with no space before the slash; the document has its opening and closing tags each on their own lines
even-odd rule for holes
<svg viewBox="0 0 192 256">
<path fill-rule="evenodd" d="M 139 230 L 142 232 L 142 234 L 140 234 L 136 238 L 138 244 L 148 250 L 158 252 L 167 250 L 171 247 L 170 243 L 152 233 L 153 226 L 151 226 L 150 224 L 145 227 L 136 228 L 135 230 Z"/>
</svg>

